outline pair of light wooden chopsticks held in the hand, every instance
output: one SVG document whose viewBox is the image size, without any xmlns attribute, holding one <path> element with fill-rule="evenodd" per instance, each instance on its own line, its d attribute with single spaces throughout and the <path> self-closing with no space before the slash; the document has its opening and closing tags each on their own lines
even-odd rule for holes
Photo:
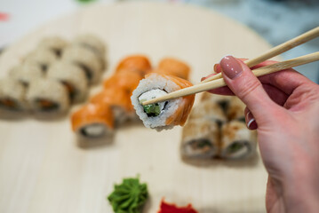
<svg viewBox="0 0 319 213">
<path fill-rule="evenodd" d="M 270 49 L 269 51 L 265 52 L 264 54 L 260 55 L 257 58 L 245 60 L 244 63 L 248 67 L 254 67 L 267 59 L 271 59 L 271 58 L 275 57 L 276 55 L 283 53 L 284 51 L 289 51 L 292 48 L 299 46 L 302 43 L 307 43 L 308 41 L 310 41 L 318 36 L 319 36 L 319 27 L 311 29 L 304 34 L 289 40 L 288 42 L 279 44 L 278 46 L 275 46 L 274 48 Z M 259 67 L 259 68 L 253 69 L 252 73 L 259 77 L 262 75 L 275 73 L 275 72 L 278 72 L 278 71 L 281 71 L 284 69 L 289 69 L 291 67 L 298 67 L 300 65 L 311 63 L 311 62 L 314 62 L 316 60 L 319 60 L 319 51 L 316 51 L 316 52 L 311 53 L 311 54 L 307 54 L 305 56 L 300 56 L 300 57 L 295 58 L 295 59 L 284 60 L 282 62 L 278 62 L 278 63 L 268 65 L 265 67 Z M 194 86 L 187 87 L 187 88 L 181 89 L 179 91 L 173 91 L 171 93 L 165 94 L 165 95 L 158 97 L 156 99 L 150 99 L 150 100 L 144 101 L 142 103 L 142 105 L 145 106 L 145 105 L 154 104 L 157 102 L 162 102 L 165 100 L 177 99 L 179 97 L 192 95 L 192 94 L 195 94 L 195 93 L 198 93 L 201 91 L 210 91 L 212 89 L 216 89 L 216 88 L 226 86 L 226 85 L 227 84 L 225 83 L 224 79 L 222 78 L 221 73 L 219 73 L 216 75 L 212 75 L 209 78 L 206 78 L 201 83 L 198 83 Z"/>
</svg>

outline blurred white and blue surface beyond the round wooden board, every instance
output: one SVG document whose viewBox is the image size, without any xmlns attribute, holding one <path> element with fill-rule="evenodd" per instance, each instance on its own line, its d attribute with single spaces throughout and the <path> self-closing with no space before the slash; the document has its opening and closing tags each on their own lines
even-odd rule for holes
<svg viewBox="0 0 319 213">
<path fill-rule="evenodd" d="M 46 21 L 91 4 L 112 4 L 134 0 L 1 0 L 0 50 L 40 27 Z M 222 13 L 255 30 L 272 45 L 319 26 L 318 0 L 157 0 L 172 4 L 194 4 Z M 319 50 L 319 39 L 283 54 L 295 58 Z M 240 56 L 244 57 L 244 56 Z M 215 61 L 211 61 L 213 64 Z M 297 68 L 319 82 L 319 62 Z"/>
</svg>

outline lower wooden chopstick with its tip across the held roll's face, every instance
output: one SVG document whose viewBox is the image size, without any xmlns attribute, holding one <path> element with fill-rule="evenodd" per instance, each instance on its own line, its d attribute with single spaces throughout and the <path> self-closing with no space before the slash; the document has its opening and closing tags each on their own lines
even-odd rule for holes
<svg viewBox="0 0 319 213">
<path fill-rule="evenodd" d="M 257 69 L 253 69 L 252 73 L 256 76 L 267 75 L 267 74 L 275 73 L 275 72 L 278 72 L 278 71 L 281 71 L 284 69 L 288 69 L 291 67 L 297 67 L 297 66 L 304 65 L 304 64 L 307 64 L 310 62 L 314 62 L 316 60 L 319 60 L 319 51 L 316 51 L 316 52 L 311 53 L 311 54 L 307 54 L 305 56 L 300 56 L 300 57 L 295 58 L 295 59 L 289 59 L 289 60 L 285 60 L 282 62 L 278 62 L 278 63 L 275 63 L 273 65 L 259 67 Z M 219 79 L 213 80 L 211 82 L 199 83 L 199 84 L 196 84 L 194 86 L 181 89 L 179 91 L 173 91 L 171 93 L 168 93 L 168 94 L 163 95 L 161 97 L 158 97 L 156 99 L 150 99 L 150 100 L 144 101 L 141 104 L 143 106 L 145 106 L 145 105 L 154 104 L 157 102 L 162 102 L 165 100 L 177 99 L 179 97 L 192 95 L 192 94 L 195 94 L 195 93 L 198 93 L 201 91 L 210 91 L 212 89 L 216 89 L 216 88 L 226 86 L 226 85 L 227 84 L 225 83 L 224 79 L 219 78 Z"/>
</svg>

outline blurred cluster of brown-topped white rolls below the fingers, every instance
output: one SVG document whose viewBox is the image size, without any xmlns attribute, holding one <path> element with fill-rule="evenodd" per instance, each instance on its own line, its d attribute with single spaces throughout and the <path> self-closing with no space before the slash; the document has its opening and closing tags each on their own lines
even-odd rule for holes
<svg viewBox="0 0 319 213">
<path fill-rule="evenodd" d="M 236 160 L 255 154 L 256 132 L 246 128 L 244 107 L 235 97 L 205 93 L 182 130 L 182 157 Z"/>
</svg>

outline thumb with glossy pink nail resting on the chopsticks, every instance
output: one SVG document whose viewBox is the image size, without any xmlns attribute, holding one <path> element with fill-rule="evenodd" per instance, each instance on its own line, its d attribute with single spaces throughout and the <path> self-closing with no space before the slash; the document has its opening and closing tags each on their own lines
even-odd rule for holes
<svg viewBox="0 0 319 213">
<path fill-rule="evenodd" d="M 256 122 L 268 121 L 277 110 L 258 78 L 243 61 L 226 56 L 220 61 L 221 72 L 231 91 L 251 110 Z"/>
</svg>

